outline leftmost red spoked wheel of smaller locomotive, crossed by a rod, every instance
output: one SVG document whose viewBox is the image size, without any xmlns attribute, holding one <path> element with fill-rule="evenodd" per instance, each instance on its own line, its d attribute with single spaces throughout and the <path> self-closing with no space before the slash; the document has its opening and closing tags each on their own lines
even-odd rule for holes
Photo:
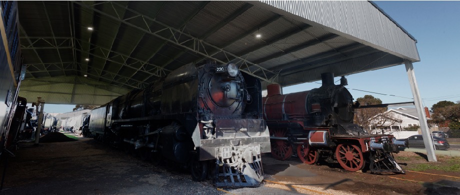
<svg viewBox="0 0 460 195">
<path fill-rule="evenodd" d="M 274 129 L 271 135 L 275 137 L 287 137 L 287 130 L 285 129 Z M 271 139 L 271 154 L 278 160 L 287 160 L 292 156 L 292 145 L 287 140 L 282 139 Z"/>
</svg>

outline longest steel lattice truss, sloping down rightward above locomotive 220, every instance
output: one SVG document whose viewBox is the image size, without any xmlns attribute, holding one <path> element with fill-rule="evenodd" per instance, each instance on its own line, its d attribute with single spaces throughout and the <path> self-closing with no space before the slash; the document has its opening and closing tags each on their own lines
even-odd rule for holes
<svg viewBox="0 0 460 195">
<path fill-rule="evenodd" d="M 138 13 L 137 11 L 132 10 L 132 9 L 130 9 L 130 8 L 127 8 L 127 7 L 126 7 L 126 10 L 131 11 L 131 12 L 133 12 L 133 13 L 135 13 L 135 14 L 141 15 L 143 19 L 148 19 L 148 20 L 154 21 L 155 23 L 158 23 L 159 25 L 164 26 L 164 28 L 162 28 L 161 30 L 158 30 L 158 31 L 153 32 L 153 31 L 151 31 L 151 29 L 149 29 L 148 26 L 140 27 L 140 26 L 137 26 L 137 25 L 135 25 L 135 24 L 129 23 L 128 21 L 120 20 L 120 19 L 118 19 L 116 16 L 113 16 L 113 15 L 111 15 L 111 14 L 108 14 L 108 13 L 104 12 L 104 11 L 101 11 L 101 10 L 99 10 L 99 9 L 96 9 L 94 6 L 88 6 L 88 5 L 86 5 L 86 4 L 84 4 L 84 3 L 81 3 L 81 2 L 78 2 L 78 1 L 75 1 L 75 3 L 76 3 L 76 4 L 79 4 L 80 6 L 84 6 L 84 7 L 86 7 L 86 8 L 93 9 L 95 12 L 98 12 L 99 14 L 102 14 L 102 15 L 105 15 L 105 16 L 107 16 L 107 17 L 109 17 L 109 18 L 114 19 L 114 20 L 118 20 L 118 21 L 120 21 L 120 22 L 123 22 L 124 24 L 126 24 L 126 25 L 128 25 L 128 26 L 131 26 L 131 27 L 137 28 L 137 29 L 139 29 L 139 30 L 142 30 L 142 31 L 144 31 L 144 32 L 146 32 L 146 33 L 149 33 L 149 34 L 151 34 L 151 35 L 153 35 L 153 36 L 156 36 L 156 37 L 158 37 L 158 38 L 160 38 L 160 39 L 166 40 L 166 41 L 168 41 L 168 42 L 170 42 L 170 43 L 172 43 L 172 44 L 175 44 L 175 45 L 178 45 L 178 46 L 180 46 L 180 47 L 186 48 L 186 49 L 188 49 L 188 50 L 190 50 L 190 51 L 193 51 L 193 52 L 195 52 L 195 53 L 198 53 L 198 54 L 200 54 L 200 55 L 207 56 L 207 57 L 209 57 L 209 58 L 211 58 L 211 59 L 214 59 L 214 60 L 216 60 L 216 61 L 218 61 L 218 62 L 220 62 L 220 63 L 227 63 L 228 61 L 225 62 L 225 61 L 222 61 L 222 60 L 220 60 L 220 59 L 215 58 L 214 56 L 209 55 L 208 52 L 206 51 L 206 48 L 205 48 L 205 47 L 211 47 L 211 48 L 213 48 L 213 49 L 217 49 L 217 50 L 219 50 L 219 53 L 221 52 L 221 53 L 223 53 L 223 55 L 227 56 L 227 60 L 228 60 L 228 56 L 232 56 L 232 57 L 234 57 L 235 59 L 239 59 L 239 61 L 237 61 L 236 63 L 240 63 L 240 68 L 241 68 L 243 65 L 246 65 L 247 70 L 244 70 L 244 69 L 241 68 L 241 71 L 247 72 L 247 73 L 249 73 L 249 74 L 251 74 L 251 75 L 253 75 L 253 76 L 255 76 L 255 77 L 258 77 L 258 78 L 260 78 L 260 79 L 262 79 L 262 80 L 265 80 L 265 81 L 267 81 L 267 82 L 273 82 L 273 81 L 272 81 L 272 78 L 273 78 L 273 77 L 272 77 L 272 78 L 267 78 L 266 76 L 265 76 L 265 77 L 262 77 L 262 76 L 258 76 L 258 75 L 253 74 L 253 73 L 250 71 L 250 69 L 249 69 L 249 65 L 251 65 L 251 66 L 257 66 L 258 69 L 260 69 L 260 70 L 263 71 L 263 74 L 264 74 L 264 75 L 265 75 L 265 71 L 266 71 L 266 72 L 271 72 L 271 73 L 276 74 L 275 72 L 272 72 L 272 71 L 270 71 L 270 70 L 268 70 L 268 69 L 266 69 L 266 68 L 264 68 L 264 67 L 262 67 L 262 66 L 260 66 L 260 65 L 258 65 L 258 64 L 256 64 L 256 63 L 253 63 L 253 62 L 251 62 L 251 61 L 248 61 L 248 60 L 246 60 L 245 58 L 242 58 L 242 57 L 240 57 L 240 56 L 237 56 L 237 55 L 235 55 L 235 54 L 233 54 L 233 53 L 231 53 L 231 52 L 229 52 L 229 51 L 223 50 L 222 48 L 219 48 L 219 47 L 217 47 L 217 46 L 214 46 L 214 45 L 212 45 L 212 44 L 210 44 L 210 43 L 208 43 L 208 42 L 206 42 L 206 41 L 200 40 L 200 39 L 197 38 L 197 37 L 194 37 L 194 36 L 191 36 L 191 35 L 189 35 L 189 34 L 183 33 L 182 31 L 180 31 L 180 30 L 178 30 L 178 29 L 175 29 L 175 28 L 173 28 L 173 27 L 171 27 L 171 26 L 168 26 L 168 25 L 166 25 L 166 24 L 164 24 L 164 23 L 162 23 L 162 22 L 160 22 L 160 21 L 157 21 L 157 20 L 154 19 L 154 18 L 150 18 L 150 17 L 148 17 L 148 16 L 146 16 L 146 15 L 143 15 L 143 14 L 141 14 L 141 13 Z M 171 33 L 171 34 L 173 35 L 172 37 L 173 37 L 174 39 L 173 39 L 173 40 L 168 39 L 168 38 L 166 38 L 166 37 L 164 37 L 164 36 L 158 34 L 158 32 L 169 32 L 169 33 Z M 176 33 L 180 34 L 180 36 L 176 36 L 176 35 L 175 35 Z M 179 39 L 180 39 L 180 40 L 179 40 Z M 193 45 L 194 45 L 193 48 L 188 47 L 188 46 L 185 45 L 186 43 L 188 43 L 188 42 L 190 42 L 190 41 L 193 42 Z M 200 50 L 200 49 L 202 49 L 202 50 Z"/>
</svg>

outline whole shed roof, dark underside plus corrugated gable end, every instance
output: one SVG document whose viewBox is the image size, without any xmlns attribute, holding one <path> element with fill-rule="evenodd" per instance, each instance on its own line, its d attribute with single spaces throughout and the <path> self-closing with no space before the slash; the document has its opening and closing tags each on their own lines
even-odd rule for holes
<svg viewBox="0 0 460 195">
<path fill-rule="evenodd" d="M 319 80 L 322 72 L 340 76 L 419 60 L 416 41 L 368 1 L 18 1 L 18 7 L 26 65 L 19 95 L 29 102 L 40 96 L 46 103 L 100 105 L 206 58 L 282 86 Z"/>
</svg>

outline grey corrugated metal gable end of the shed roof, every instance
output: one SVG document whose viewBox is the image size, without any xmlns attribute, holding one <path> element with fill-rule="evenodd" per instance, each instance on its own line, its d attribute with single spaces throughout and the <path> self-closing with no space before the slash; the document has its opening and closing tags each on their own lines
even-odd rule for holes
<svg viewBox="0 0 460 195">
<path fill-rule="evenodd" d="M 416 40 L 369 1 L 246 2 L 412 62 L 420 60 Z"/>
</svg>

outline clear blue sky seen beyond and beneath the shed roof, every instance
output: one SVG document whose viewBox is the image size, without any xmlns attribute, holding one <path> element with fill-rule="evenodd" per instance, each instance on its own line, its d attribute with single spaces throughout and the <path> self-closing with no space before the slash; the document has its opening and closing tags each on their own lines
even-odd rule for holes
<svg viewBox="0 0 460 195">
<path fill-rule="evenodd" d="M 423 106 L 430 108 L 442 100 L 460 100 L 456 87 L 460 84 L 460 1 L 374 2 L 417 40 L 420 61 L 414 62 L 413 67 Z M 351 74 L 346 78 L 346 87 L 354 99 L 370 94 L 383 103 L 413 101 L 404 64 Z M 320 81 L 292 85 L 283 87 L 283 93 L 319 86 Z M 45 104 L 44 111 L 63 113 L 74 107 Z"/>
</svg>

